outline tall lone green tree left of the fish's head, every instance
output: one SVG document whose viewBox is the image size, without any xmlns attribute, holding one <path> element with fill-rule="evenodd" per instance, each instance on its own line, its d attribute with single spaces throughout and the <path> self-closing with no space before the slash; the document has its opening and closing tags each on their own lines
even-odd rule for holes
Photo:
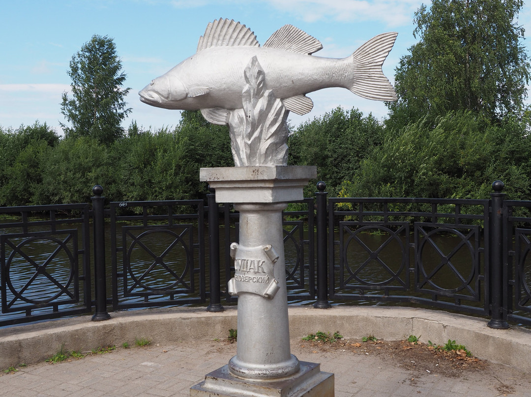
<svg viewBox="0 0 531 397">
<path fill-rule="evenodd" d="M 72 124 L 61 123 L 66 136 L 90 136 L 103 144 L 123 136 L 121 123 L 131 112 L 125 102 L 130 88 L 122 88 L 126 74 L 113 39 L 92 36 L 72 56 L 66 73 L 72 79 L 73 96 L 69 98 L 66 92 L 62 96 L 61 113 Z"/>
</svg>

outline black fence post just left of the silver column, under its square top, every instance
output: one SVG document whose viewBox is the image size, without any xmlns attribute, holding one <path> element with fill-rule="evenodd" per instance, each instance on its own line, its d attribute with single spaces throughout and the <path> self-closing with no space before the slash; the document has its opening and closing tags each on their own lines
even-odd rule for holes
<svg viewBox="0 0 531 397">
<path fill-rule="evenodd" d="M 221 305 L 220 274 L 219 274 L 219 212 L 216 203 L 216 191 L 208 187 L 210 194 L 208 200 L 208 243 L 210 258 L 210 304 L 207 312 L 222 312 Z"/>
</svg>

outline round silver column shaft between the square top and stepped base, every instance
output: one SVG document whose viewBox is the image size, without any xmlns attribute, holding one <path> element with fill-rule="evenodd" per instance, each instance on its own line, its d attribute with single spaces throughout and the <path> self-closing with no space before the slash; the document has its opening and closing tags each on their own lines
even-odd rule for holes
<svg viewBox="0 0 531 397">
<path fill-rule="evenodd" d="M 239 247 L 235 252 L 235 278 L 255 291 L 238 291 L 238 340 L 237 354 L 229 361 L 230 372 L 245 378 L 278 378 L 292 375 L 299 369 L 295 356 L 290 354 L 286 271 L 284 264 L 284 235 L 282 210 L 287 203 L 235 204 L 239 211 Z M 264 247 L 271 247 L 273 260 L 264 254 Z M 242 252 L 243 251 L 243 252 Z M 256 251 L 256 254 L 254 253 Z M 262 251 L 262 253 L 260 252 Z M 253 265 L 251 271 L 241 271 Z M 278 258 L 277 258 L 278 257 Z M 263 258 L 263 259 L 262 259 Z M 270 278 L 266 264 L 272 264 Z M 259 269 L 256 267 L 259 266 Z M 263 282 L 253 282 L 256 281 Z M 234 279 L 233 279 L 234 280 Z M 276 291 L 264 297 L 260 294 L 272 285 Z M 229 289 L 230 291 L 230 289 Z M 273 296 L 271 296 L 273 295 Z"/>
</svg>

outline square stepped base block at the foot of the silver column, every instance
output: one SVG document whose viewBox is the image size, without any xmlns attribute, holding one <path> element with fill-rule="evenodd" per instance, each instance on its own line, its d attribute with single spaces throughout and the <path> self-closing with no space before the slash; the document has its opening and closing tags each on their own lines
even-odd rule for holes
<svg viewBox="0 0 531 397">
<path fill-rule="evenodd" d="M 263 381 L 233 376 L 225 365 L 192 386 L 190 397 L 334 397 L 333 374 L 322 372 L 316 363 L 300 365 L 292 376 Z"/>
</svg>

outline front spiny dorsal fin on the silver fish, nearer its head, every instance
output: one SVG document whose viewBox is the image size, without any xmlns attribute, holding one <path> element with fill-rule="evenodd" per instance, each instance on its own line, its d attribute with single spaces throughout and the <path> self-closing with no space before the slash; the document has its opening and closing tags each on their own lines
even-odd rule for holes
<svg viewBox="0 0 531 397">
<path fill-rule="evenodd" d="M 210 47 L 251 46 L 260 47 L 251 29 L 239 22 L 217 19 L 210 22 L 203 36 L 199 38 L 199 51 Z"/>
</svg>

